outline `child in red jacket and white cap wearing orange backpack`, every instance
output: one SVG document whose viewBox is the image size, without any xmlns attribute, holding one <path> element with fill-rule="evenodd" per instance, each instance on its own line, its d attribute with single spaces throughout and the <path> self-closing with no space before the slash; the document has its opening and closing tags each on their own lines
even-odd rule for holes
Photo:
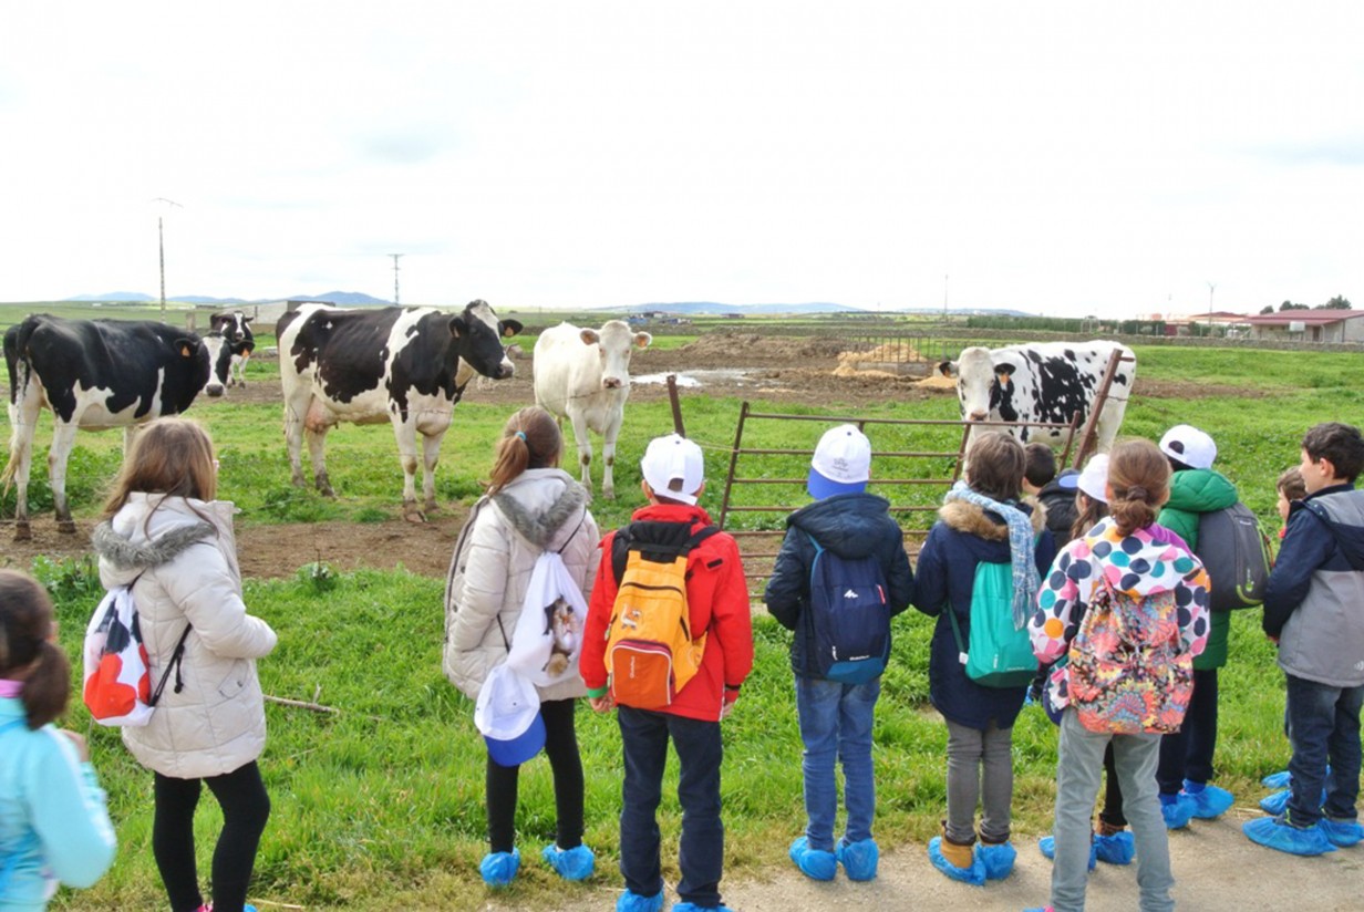
<svg viewBox="0 0 1364 912">
<path fill-rule="evenodd" d="M 634 543 L 667 541 L 678 532 L 687 537 L 711 525 L 711 517 L 697 506 L 705 488 L 705 461 L 696 443 L 675 434 L 657 438 L 649 443 L 640 469 L 649 506 L 634 511 L 632 523 L 622 530 L 626 537 Z M 602 566 L 592 588 L 580 658 L 592 709 L 599 713 L 617 709 L 625 751 L 621 872 L 627 889 L 615 908 L 617 912 L 659 912 L 663 908 L 656 811 L 671 739 L 681 765 L 678 802 L 682 804 L 682 879 L 678 883 L 682 902 L 672 909 L 724 909 L 720 904 L 724 867 L 720 720 L 732 709 L 739 686 L 753 668 L 753 627 L 739 548 L 723 532 L 692 548 L 686 596 L 693 639 L 705 634 L 700 669 L 667 706 L 638 709 L 617 705 L 608 690 L 606 648 L 619 586 L 614 560 L 619 537 L 621 532 L 611 532 L 602 540 Z"/>
</svg>

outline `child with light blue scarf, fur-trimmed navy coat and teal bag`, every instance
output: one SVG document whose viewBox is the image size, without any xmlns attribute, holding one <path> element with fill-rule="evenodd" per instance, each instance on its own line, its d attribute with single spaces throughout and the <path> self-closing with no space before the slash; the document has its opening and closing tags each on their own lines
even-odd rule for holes
<svg viewBox="0 0 1364 912">
<path fill-rule="evenodd" d="M 949 878 L 977 885 L 1007 877 L 1013 867 L 1013 720 L 1027 684 L 985 687 L 966 675 L 963 653 L 971 638 L 975 568 L 981 563 L 1011 564 L 1015 609 L 1026 619 L 1039 575 L 1056 553 L 1046 510 L 1031 498 L 1019 499 L 1023 472 L 1023 446 L 1016 439 L 998 432 L 977 438 L 968 451 L 967 483 L 947 495 L 917 568 L 914 607 L 937 618 L 929 698 L 948 728 L 947 821 L 943 834 L 929 842 L 929 859 Z M 956 616 L 962 649 L 948 612 Z"/>
</svg>

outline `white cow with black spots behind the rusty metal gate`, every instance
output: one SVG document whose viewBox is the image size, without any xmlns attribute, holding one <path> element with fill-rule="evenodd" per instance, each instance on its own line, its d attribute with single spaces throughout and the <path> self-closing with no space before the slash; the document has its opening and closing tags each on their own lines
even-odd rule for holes
<svg viewBox="0 0 1364 912">
<path fill-rule="evenodd" d="M 1113 352 L 1123 353 L 1108 401 L 1095 427 L 1099 453 L 1106 453 L 1123 427 L 1123 413 L 1136 378 L 1132 350 L 1117 342 L 1042 342 L 1001 349 L 968 348 L 938 371 L 956 378 L 966 421 L 1045 421 L 1068 424 L 1079 413 L 1079 427 L 1090 410 Z M 1065 431 L 1008 428 L 1020 440 L 1060 443 Z"/>
</svg>

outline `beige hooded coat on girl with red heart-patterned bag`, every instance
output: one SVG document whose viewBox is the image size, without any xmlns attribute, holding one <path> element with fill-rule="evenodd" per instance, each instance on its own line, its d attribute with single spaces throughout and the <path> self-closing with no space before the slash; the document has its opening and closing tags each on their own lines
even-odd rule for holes
<svg viewBox="0 0 1364 912">
<path fill-rule="evenodd" d="M 145 728 L 123 729 L 123 743 L 175 778 L 221 776 L 256 759 L 265 701 L 254 660 L 274 649 L 276 634 L 241 601 L 232 504 L 135 492 L 95 526 L 91 544 L 105 588 L 136 579 L 153 687 L 190 626 L 180 673 L 170 672 Z"/>
</svg>

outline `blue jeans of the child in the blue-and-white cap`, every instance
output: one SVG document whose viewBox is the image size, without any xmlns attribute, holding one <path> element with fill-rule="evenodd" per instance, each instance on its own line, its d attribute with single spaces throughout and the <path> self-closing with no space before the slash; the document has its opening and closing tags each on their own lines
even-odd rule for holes
<svg viewBox="0 0 1364 912">
<path fill-rule="evenodd" d="M 839 789 L 833 761 L 843 763 L 843 800 L 848 808 L 847 840 L 872 838 L 876 781 L 872 776 L 872 721 L 881 679 L 843 684 L 822 678 L 795 679 L 795 712 L 805 753 L 805 837 L 812 849 L 833 851 Z"/>
</svg>

